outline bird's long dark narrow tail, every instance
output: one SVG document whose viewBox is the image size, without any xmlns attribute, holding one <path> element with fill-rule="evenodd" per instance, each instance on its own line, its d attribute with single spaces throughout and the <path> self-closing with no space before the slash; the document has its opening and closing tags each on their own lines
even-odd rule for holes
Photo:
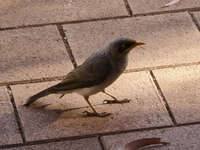
<svg viewBox="0 0 200 150">
<path fill-rule="evenodd" d="M 26 101 L 26 103 L 24 104 L 24 106 L 29 106 L 31 105 L 33 102 L 35 102 L 37 99 L 41 98 L 41 97 L 44 97 L 44 96 L 47 96 L 49 94 L 51 94 L 51 87 L 48 88 L 48 89 L 45 89 L 31 97 L 29 97 L 29 99 Z"/>
</svg>

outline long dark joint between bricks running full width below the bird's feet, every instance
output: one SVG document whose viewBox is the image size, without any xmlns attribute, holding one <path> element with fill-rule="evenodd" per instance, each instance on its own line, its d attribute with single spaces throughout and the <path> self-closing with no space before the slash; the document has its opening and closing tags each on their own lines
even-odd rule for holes
<svg viewBox="0 0 200 150">
<path fill-rule="evenodd" d="M 145 132 L 145 131 L 161 130 L 161 129 L 180 128 L 180 127 L 187 127 L 187 126 L 193 126 L 193 125 L 200 125 L 200 121 L 178 124 L 177 126 L 172 126 L 172 125 L 157 126 L 157 127 L 149 127 L 149 128 L 129 129 L 129 130 L 124 130 L 124 131 L 113 131 L 113 132 L 106 132 L 106 133 L 82 135 L 82 136 L 72 136 L 72 137 L 61 137 L 61 138 L 54 138 L 54 139 L 27 141 L 24 144 L 18 143 L 18 144 L 0 145 L 0 149 L 41 145 L 41 144 L 47 144 L 47 143 L 53 143 L 53 142 L 75 141 L 75 140 L 81 140 L 81 139 L 87 139 L 87 138 L 94 138 L 94 137 L 98 138 L 98 137 L 102 137 L 102 136 L 118 135 L 118 134 L 125 134 L 125 133 L 131 133 L 131 132 L 133 133 L 133 132 Z"/>
</svg>

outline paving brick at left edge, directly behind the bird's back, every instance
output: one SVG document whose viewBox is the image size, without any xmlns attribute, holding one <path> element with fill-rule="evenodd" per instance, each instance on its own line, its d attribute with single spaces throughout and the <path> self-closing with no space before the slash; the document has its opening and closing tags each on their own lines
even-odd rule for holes
<svg viewBox="0 0 200 150">
<path fill-rule="evenodd" d="M 65 75 L 73 67 L 56 26 L 0 32 L 0 81 Z"/>
</svg>

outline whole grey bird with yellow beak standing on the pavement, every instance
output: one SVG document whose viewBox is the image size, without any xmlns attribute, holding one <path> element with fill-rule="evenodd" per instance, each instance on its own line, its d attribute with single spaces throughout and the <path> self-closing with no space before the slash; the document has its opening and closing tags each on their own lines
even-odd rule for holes
<svg viewBox="0 0 200 150">
<path fill-rule="evenodd" d="M 103 92 L 114 99 L 106 100 L 107 103 L 129 102 L 129 100 L 117 100 L 105 92 L 105 88 L 112 84 L 125 70 L 128 62 L 127 56 L 131 49 L 144 44 L 129 38 L 114 40 L 104 49 L 94 52 L 82 65 L 69 72 L 63 81 L 31 96 L 24 106 L 29 106 L 37 99 L 49 94 L 62 94 L 64 96 L 67 93 L 76 92 L 84 97 L 93 111 L 85 111 L 87 116 L 105 117 L 110 115 L 106 112 L 98 113 L 90 103 L 89 96 Z"/>
</svg>

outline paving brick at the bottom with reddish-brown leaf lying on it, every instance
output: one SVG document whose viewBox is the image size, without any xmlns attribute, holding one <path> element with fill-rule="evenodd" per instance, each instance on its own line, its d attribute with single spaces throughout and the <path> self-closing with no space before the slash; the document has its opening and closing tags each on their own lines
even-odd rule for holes
<svg viewBox="0 0 200 150">
<path fill-rule="evenodd" d="M 199 150 L 200 147 L 200 125 L 175 127 L 161 130 L 132 132 L 127 134 L 118 134 L 103 137 L 103 143 L 106 150 L 117 150 L 125 144 L 142 138 L 161 138 L 161 141 L 169 142 L 167 146 L 157 146 L 145 148 L 148 150 Z M 122 150 L 122 149 L 121 149 Z"/>
</svg>

